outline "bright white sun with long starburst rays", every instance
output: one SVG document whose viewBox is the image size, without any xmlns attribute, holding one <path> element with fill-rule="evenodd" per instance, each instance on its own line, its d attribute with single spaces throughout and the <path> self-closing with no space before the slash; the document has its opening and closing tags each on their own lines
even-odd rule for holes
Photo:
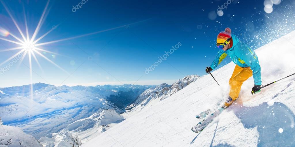
<svg viewBox="0 0 295 147">
<path fill-rule="evenodd" d="M 42 16 L 40 17 L 40 20 L 39 20 L 39 22 L 37 24 L 37 27 L 36 27 L 36 29 L 35 29 L 32 36 L 29 35 L 29 30 L 28 30 L 28 25 L 27 25 L 27 17 L 25 15 L 26 13 L 25 13 L 24 6 L 23 6 L 23 12 L 24 12 L 24 26 L 25 26 L 25 31 L 24 32 L 25 33 L 23 33 L 23 31 L 20 29 L 19 25 L 17 24 L 17 21 L 14 19 L 13 15 L 10 13 L 8 7 L 4 4 L 4 2 L 2 0 L 0 0 L 0 2 L 4 6 L 6 12 L 10 16 L 10 18 L 12 19 L 14 25 L 16 26 L 17 30 L 19 31 L 18 33 L 21 36 L 21 38 L 19 38 L 19 37 L 15 36 L 14 34 L 12 34 L 12 32 L 8 32 L 5 29 L 0 27 L 0 35 L 1 36 L 7 37 L 7 36 L 10 35 L 14 39 L 16 39 L 14 41 L 14 40 L 10 40 L 10 39 L 0 37 L 0 40 L 7 41 L 7 42 L 18 45 L 18 47 L 14 47 L 14 48 L 10 48 L 10 49 L 0 49 L 0 52 L 20 50 L 16 54 L 12 55 L 10 58 L 8 58 L 5 61 L 3 61 L 2 63 L 0 63 L 0 66 L 7 63 L 10 60 L 12 60 L 15 56 L 18 56 L 19 54 L 22 54 L 22 59 L 21 59 L 21 62 L 22 62 L 23 59 L 26 57 L 26 55 L 28 55 L 28 57 L 29 57 L 29 66 L 30 66 L 31 99 L 33 99 L 32 57 L 35 59 L 36 64 L 39 66 L 39 68 L 41 70 L 42 70 L 42 67 L 41 67 L 36 55 L 38 55 L 38 57 L 42 57 L 43 59 L 49 61 L 51 64 L 55 65 L 56 67 L 58 67 L 59 69 L 64 71 L 66 74 L 71 75 L 67 71 L 65 71 L 62 67 L 58 66 L 57 64 L 55 64 L 53 61 L 51 61 L 49 58 L 47 58 L 44 55 L 45 53 L 54 54 L 52 56 L 60 55 L 60 54 L 57 54 L 57 53 L 52 52 L 52 51 L 48 51 L 46 49 L 42 49 L 43 48 L 42 46 L 57 43 L 57 42 L 60 42 L 60 41 L 66 41 L 66 40 L 70 40 L 70 39 L 76 39 L 76 38 L 85 37 L 85 36 L 89 36 L 89 35 L 99 34 L 99 33 L 106 32 L 106 31 L 111 31 L 111 30 L 114 30 L 114 29 L 124 28 L 126 26 L 126 25 L 117 26 L 117 27 L 114 27 L 114 28 L 105 29 L 105 30 L 101 30 L 101 31 L 96 31 L 96 32 L 88 33 L 88 34 L 79 35 L 79 36 L 74 36 L 74 37 L 69 37 L 69 38 L 64 38 L 64 39 L 59 39 L 59 40 L 53 40 L 53 41 L 48 41 L 48 42 L 42 42 L 41 39 L 43 39 L 45 36 L 47 36 L 50 32 L 52 32 L 54 29 L 56 29 L 59 26 L 59 24 L 58 24 L 58 25 L 52 27 L 45 34 L 43 34 L 39 38 L 36 38 L 40 28 L 42 27 L 42 22 L 44 22 L 44 20 L 46 19 L 45 12 L 47 11 L 47 8 L 48 8 L 48 5 L 49 5 L 49 0 L 46 3 L 46 6 L 45 6 L 45 8 L 43 10 L 43 13 L 42 13 Z M 145 21 L 145 20 L 142 20 L 142 21 Z M 142 21 L 137 21 L 137 22 L 127 24 L 127 25 L 136 24 L 136 23 L 139 23 L 139 22 L 142 22 Z M 41 43 L 37 43 L 37 42 L 41 42 Z"/>
</svg>

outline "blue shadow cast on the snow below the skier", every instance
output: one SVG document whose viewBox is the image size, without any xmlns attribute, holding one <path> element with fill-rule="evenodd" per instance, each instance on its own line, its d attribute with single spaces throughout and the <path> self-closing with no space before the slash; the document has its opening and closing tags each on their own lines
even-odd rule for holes
<svg viewBox="0 0 295 147">
<path fill-rule="evenodd" d="M 265 102 L 254 107 L 241 107 L 236 105 L 229 109 L 234 111 L 244 128 L 249 129 L 257 126 L 257 131 L 259 132 L 258 147 L 295 146 L 295 116 L 283 103 L 275 102 L 272 106 L 268 106 Z M 212 146 L 215 133 L 218 130 L 217 126 L 218 122 L 210 146 Z M 283 132 L 280 133 L 279 129 Z M 191 141 L 191 143 L 194 143 L 200 133 Z M 228 147 L 230 145 L 226 143 L 218 144 L 216 146 Z"/>
</svg>

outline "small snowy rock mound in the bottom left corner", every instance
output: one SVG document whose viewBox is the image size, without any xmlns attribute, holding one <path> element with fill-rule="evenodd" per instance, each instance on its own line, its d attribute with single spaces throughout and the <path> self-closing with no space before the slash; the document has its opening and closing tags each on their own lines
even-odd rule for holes
<svg viewBox="0 0 295 147">
<path fill-rule="evenodd" d="M 0 146 L 7 147 L 42 147 L 33 136 L 24 133 L 21 128 L 6 126 L 0 118 Z"/>
</svg>

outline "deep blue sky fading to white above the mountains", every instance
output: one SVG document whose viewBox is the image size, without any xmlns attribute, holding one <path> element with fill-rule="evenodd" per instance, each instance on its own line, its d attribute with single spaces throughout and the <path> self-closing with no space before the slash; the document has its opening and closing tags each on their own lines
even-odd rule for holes
<svg viewBox="0 0 295 147">
<path fill-rule="evenodd" d="M 234 0 L 216 14 L 218 6 L 227 1 L 85 1 L 81 9 L 72 11 L 81 0 L 50 1 L 41 23 L 39 38 L 54 28 L 38 43 L 67 40 L 38 46 L 53 53 L 40 53 L 63 70 L 36 54 L 42 69 L 32 57 L 32 82 L 59 85 L 173 83 L 186 75 L 204 75 L 217 54 L 216 37 L 224 28 L 256 49 L 294 30 L 294 1 L 283 0 L 264 11 L 263 1 Z M 30 37 L 33 35 L 47 1 L 4 1 L 19 28 L 25 34 L 25 19 Z M 225 5 L 224 5 L 225 6 Z M 24 12 L 24 10 L 25 12 Z M 22 39 L 9 14 L 0 5 L 0 29 Z M 128 25 L 125 26 L 124 25 Z M 121 27 L 120 27 L 121 26 Z M 112 29 L 115 28 L 115 29 Z M 89 34 L 71 39 L 71 37 Z M 17 41 L 11 35 L 0 36 Z M 181 43 L 167 60 L 149 74 L 149 68 L 165 51 Z M 0 50 L 16 45 L 0 40 Z M 19 50 L 0 52 L 0 63 Z M 92 59 L 92 60 L 89 60 Z M 12 59 L 13 60 L 13 59 Z M 3 63 L 4 68 L 11 60 Z M 230 62 L 226 59 L 222 65 Z M 221 66 L 222 66 L 221 65 Z M 231 73 L 229 73 L 231 74 Z M 1 73 L 0 87 L 29 84 L 28 55 L 17 60 L 9 70 Z"/>
</svg>

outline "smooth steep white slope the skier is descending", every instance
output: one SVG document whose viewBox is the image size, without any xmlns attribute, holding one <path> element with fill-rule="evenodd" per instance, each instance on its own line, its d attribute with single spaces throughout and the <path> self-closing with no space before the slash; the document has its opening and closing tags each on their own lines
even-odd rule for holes
<svg viewBox="0 0 295 147">
<path fill-rule="evenodd" d="M 294 31 L 255 50 L 264 85 L 295 72 L 292 42 Z M 228 96 L 228 80 L 234 67 L 231 62 L 212 72 L 221 86 L 210 75 L 202 76 L 162 101 L 151 101 L 82 146 L 295 146 L 294 76 L 255 95 L 250 94 L 254 83 L 249 78 L 237 103 L 201 133 L 190 130 L 198 122 L 196 114 Z"/>
</svg>

